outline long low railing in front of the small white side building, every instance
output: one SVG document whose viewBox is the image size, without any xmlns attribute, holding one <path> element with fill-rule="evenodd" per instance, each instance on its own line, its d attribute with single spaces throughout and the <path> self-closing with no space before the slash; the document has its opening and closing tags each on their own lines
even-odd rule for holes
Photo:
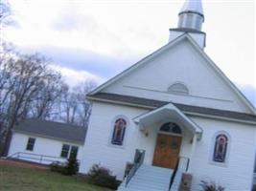
<svg viewBox="0 0 256 191">
<path fill-rule="evenodd" d="M 11 156 L 8 156 L 7 159 L 23 159 L 23 160 L 27 160 L 35 163 L 43 163 L 43 164 L 50 164 L 55 161 L 63 161 L 63 158 L 39 155 L 34 153 L 25 153 L 25 152 L 16 152 Z"/>
</svg>

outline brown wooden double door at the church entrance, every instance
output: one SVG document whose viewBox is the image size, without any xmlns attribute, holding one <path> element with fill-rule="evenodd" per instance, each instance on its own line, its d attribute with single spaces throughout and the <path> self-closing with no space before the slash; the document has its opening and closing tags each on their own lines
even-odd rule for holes
<svg viewBox="0 0 256 191">
<path fill-rule="evenodd" d="M 175 168 L 181 146 L 181 137 L 158 134 L 154 149 L 154 166 Z"/>
</svg>

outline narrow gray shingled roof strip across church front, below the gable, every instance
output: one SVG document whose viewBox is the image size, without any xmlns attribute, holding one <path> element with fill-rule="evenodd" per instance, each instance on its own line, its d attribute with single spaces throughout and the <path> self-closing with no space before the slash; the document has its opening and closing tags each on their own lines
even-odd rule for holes
<svg viewBox="0 0 256 191">
<path fill-rule="evenodd" d="M 147 99 L 147 98 L 136 97 L 136 96 L 123 96 L 123 95 L 116 95 L 116 94 L 108 94 L 108 93 L 98 93 L 91 97 L 107 99 L 107 100 L 112 100 L 112 101 L 127 102 L 127 103 L 131 103 L 131 104 L 137 104 L 137 105 L 154 107 L 154 108 L 158 108 L 158 107 L 161 107 L 163 105 L 170 103 L 167 101 Z M 185 105 L 185 104 L 179 104 L 179 103 L 174 103 L 174 102 L 172 102 L 172 103 L 182 112 L 193 112 L 193 113 L 198 113 L 201 115 L 209 115 L 209 116 L 215 116 L 215 117 L 228 117 L 228 118 L 256 122 L 256 116 L 254 116 L 254 115 L 249 115 L 249 114 L 239 113 L 239 112 L 231 112 L 231 111 L 226 111 L 226 110 L 213 109 L 213 108 L 198 107 L 198 106 L 193 106 L 193 105 Z"/>
</svg>

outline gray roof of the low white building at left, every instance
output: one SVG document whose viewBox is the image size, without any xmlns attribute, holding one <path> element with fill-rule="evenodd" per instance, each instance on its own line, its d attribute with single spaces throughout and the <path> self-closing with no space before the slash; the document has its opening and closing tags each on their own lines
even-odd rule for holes
<svg viewBox="0 0 256 191">
<path fill-rule="evenodd" d="M 20 122 L 13 130 L 14 132 L 83 144 L 87 128 L 61 122 L 31 118 Z"/>
</svg>

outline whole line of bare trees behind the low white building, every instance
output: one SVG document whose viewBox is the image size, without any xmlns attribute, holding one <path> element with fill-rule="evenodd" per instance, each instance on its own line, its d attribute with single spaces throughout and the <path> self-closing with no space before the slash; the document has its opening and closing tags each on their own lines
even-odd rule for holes
<svg viewBox="0 0 256 191">
<path fill-rule="evenodd" d="M 52 62 L 40 54 L 15 53 L 2 44 L 0 52 L 0 140 L 26 118 L 62 121 L 86 127 L 91 107 L 86 99 L 96 83 L 69 87 Z"/>
</svg>

